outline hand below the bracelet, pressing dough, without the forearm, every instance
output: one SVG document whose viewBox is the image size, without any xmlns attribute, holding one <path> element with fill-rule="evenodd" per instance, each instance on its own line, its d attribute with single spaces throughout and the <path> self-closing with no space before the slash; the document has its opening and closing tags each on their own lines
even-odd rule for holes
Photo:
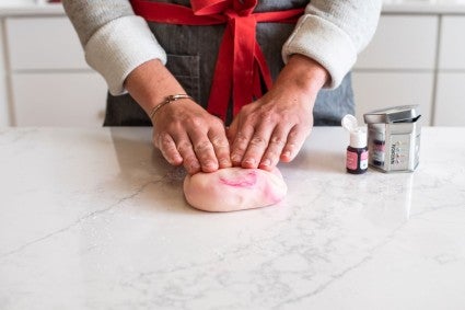
<svg viewBox="0 0 465 310">
<path fill-rule="evenodd" d="M 171 102 L 156 112 L 152 123 L 153 143 L 171 164 L 183 164 L 189 174 L 231 167 L 223 123 L 196 102 Z"/>
</svg>

